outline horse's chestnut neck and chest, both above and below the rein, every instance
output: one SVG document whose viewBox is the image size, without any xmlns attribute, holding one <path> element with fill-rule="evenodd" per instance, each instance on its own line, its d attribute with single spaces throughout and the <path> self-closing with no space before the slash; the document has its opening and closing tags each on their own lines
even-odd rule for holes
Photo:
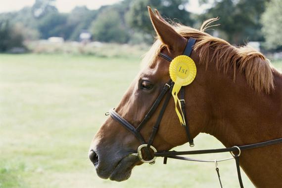
<svg viewBox="0 0 282 188">
<path fill-rule="evenodd" d="M 211 115 L 202 132 L 215 136 L 226 147 L 282 138 L 282 74 L 274 71 L 275 90 L 255 92 L 244 75 L 207 72 Z M 240 166 L 256 187 L 282 187 L 282 145 L 244 150 Z M 268 180 L 268 181 L 266 181 Z"/>
</svg>

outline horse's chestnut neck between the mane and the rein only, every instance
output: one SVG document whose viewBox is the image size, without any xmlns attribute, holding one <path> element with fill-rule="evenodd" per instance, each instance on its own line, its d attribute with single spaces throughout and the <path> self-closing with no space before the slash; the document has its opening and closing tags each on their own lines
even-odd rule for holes
<svg viewBox="0 0 282 188">
<path fill-rule="evenodd" d="M 226 147 L 281 138 L 282 75 L 274 71 L 275 90 L 266 94 L 251 88 L 244 75 L 237 73 L 234 81 L 233 73 L 207 71 L 213 77 L 207 83 L 211 117 L 203 132 Z"/>
</svg>

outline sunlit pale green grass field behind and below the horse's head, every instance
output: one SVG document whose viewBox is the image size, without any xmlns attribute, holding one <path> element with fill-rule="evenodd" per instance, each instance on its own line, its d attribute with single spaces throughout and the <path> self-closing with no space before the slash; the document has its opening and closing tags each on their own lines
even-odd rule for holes
<svg viewBox="0 0 282 188">
<path fill-rule="evenodd" d="M 141 165 L 117 183 L 99 179 L 88 159 L 104 112 L 139 70 L 136 58 L 0 55 L 0 188 L 217 188 L 213 163 Z M 280 70 L 282 62 L 274 63 Z M 209 135 L 193 149 L 223 147 Z M 176 150 L 189 150 L 188 145 Z M 230 154 L 198 156 L 225 158 Z M 219 163 L 223 186 L 237 188 L 235 161 Z M 253 187 L 243 174 L 246 188 Z"/>
</svg>

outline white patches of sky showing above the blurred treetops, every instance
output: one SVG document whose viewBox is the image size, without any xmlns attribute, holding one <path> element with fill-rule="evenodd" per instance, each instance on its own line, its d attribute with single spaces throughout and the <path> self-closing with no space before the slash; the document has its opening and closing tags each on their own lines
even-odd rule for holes
<svg viewBox="0 0 282 188">
<path fill-rule="evenodd" d="M 56 0 L 56 7 L 60 12 L 70 12 L 75 6 L 86 5 L 89 9 L 97 9 L 102 5 L 113 4 L 121 0 Z M 0 0 L 0 12 L 20 10 L 24 6 L 32 6 L 35 0 Z M 201 13 L 198 0 L 190 0 L 186 7 L 188 11 Z"/>
</svg>

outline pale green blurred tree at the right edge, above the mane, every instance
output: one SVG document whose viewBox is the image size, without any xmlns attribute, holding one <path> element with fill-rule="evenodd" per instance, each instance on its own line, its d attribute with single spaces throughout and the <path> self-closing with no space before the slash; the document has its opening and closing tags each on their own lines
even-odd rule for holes
<svg viewBox="0 0 282 188">
<path fill-rule="evenodd" d="M 282 3 L 281 0 L 271 0 L 262 15 L 262 32 L 268 48 L 282 46 Z"/>
</svg>

